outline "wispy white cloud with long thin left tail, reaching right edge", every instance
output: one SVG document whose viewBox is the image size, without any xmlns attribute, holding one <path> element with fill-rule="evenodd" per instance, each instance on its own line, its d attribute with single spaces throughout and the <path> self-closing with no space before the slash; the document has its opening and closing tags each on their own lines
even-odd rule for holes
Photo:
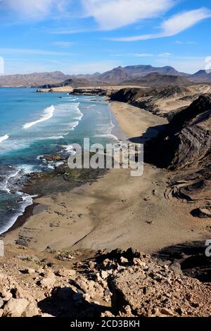
<svg viewBox="0 0 211 331">
<path fill-rule="evenodd" d="M 178 35 L 180 32 L 196 25 L 205 18 L 211 17 L 211 11 L 207 8 L 199 8 L 194 11 L 186 11 L 184 13 L 178 13 L 172 16 L 168 20 L 165 20 L 162 25 L 162 31 L 154 35 L 140 35 L 135 37 L 123 37 L 123 38 L 113 38 L 113 41 L 117 42 L 135 42 L 138 40 L 155 39 L 161 37 L 171 37 Z"/>
</svg>

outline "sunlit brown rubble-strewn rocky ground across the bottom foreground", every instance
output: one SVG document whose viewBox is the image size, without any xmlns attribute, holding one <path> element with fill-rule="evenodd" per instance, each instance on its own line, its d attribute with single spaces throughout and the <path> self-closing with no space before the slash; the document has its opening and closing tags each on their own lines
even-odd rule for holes
<svg viewBox="0 0 211 331">
<path fill-rule="evenodd" d="M 11 254 L 13 247 L 9 249 Z M 55 260 L 61 252 L 46 252 L 46 258 L 39 259 L 38 252 L 36 258 L 20 255 L 22 249 L 32 253 L 18 246 L 18 256 L 0 263 L 1 316 L 210 316 L 209 284 L 185 277 L 179 263 L 117 249 L 98 251 L 85 260 L 78 259 L 81 253 L 69 252 L 73 262 L 61 266 L 62 261 Z"/>
</svg>

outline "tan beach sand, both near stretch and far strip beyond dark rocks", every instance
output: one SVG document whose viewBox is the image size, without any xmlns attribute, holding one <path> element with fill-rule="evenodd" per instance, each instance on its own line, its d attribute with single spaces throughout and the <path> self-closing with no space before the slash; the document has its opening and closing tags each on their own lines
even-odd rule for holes
<svg viewBox="0 0 211 331">
<path fill-rule="evenodd" d="M 144 142 L 166 120 L 134 106 L 111 107 L 127 137 Z M 141 138 L 140 138 L 141 137 Z M 29 246 L 53 249 L 127 249 L 152 253 L 165 246 L 204 239 L 207 220 L 193 218 L 190 204 L 166 199 L 171 174 L 145 164 L 141 177 L 128 169 L 110 170 L 96 182 L 39 199 L 25 224 L 4 242 L 27 238 Z"/>
</svg>

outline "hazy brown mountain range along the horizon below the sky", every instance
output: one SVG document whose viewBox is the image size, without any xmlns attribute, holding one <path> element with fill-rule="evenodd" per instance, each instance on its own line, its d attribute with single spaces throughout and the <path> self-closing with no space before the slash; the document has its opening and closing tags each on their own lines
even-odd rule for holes
<svg viewBox="0 0 211 331">
<path fill-rule="evenodd" d="M 177 77 L 177 78 L 175 78 Z M 129 65 L 117 67 L 106 73 L 93 75 L 65 75 L 60 71 L 53 73 L 32 73 L 27 75 L 2 75 L 0 86 L 58 87 L 87 85 L 188 85 L 193 82 L 211 83 L 211 73 L 199 70 L 190 75 L 181 73 L 171 66 Z"/>
</svg>

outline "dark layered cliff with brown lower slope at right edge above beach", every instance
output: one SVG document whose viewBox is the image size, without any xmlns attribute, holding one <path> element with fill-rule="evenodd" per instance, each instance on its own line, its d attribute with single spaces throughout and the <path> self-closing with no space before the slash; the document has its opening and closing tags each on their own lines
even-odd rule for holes
<svg viewBox="0 0 211 331">
<path fill-rule="evenodd" d="M 174 116 L 149 144 L 148 161 L 174 170 L 173 195 L 199 201 L 198 216 L 209 216 L 211 196 L 211 96 L 200 96 Z M 205 205 L 205 206 L 203 206 Z M 205 211 L 205 213 L 202 212 Z"/>
</svg>

